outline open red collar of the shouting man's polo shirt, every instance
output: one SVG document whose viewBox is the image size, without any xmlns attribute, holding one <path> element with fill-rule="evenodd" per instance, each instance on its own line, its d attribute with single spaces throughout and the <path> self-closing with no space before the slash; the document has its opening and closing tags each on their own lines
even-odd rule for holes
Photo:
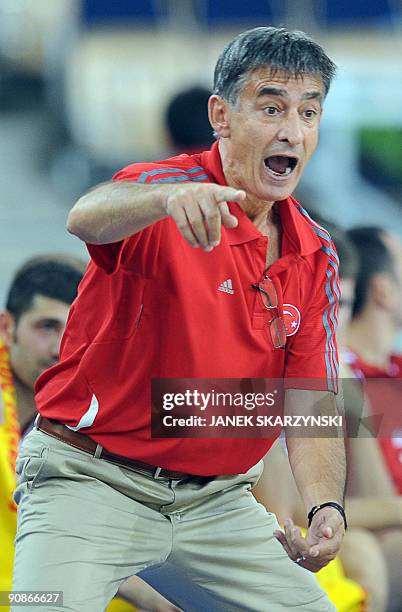
<svg viewBox="0 0 402 612">
<path fill-rule="evenodd" d="M 218 142 L 214 142 L 209 151 L 201 153 L 200 162 L 212 182 L 218 185 L 227 185 L 222 169 Z M 237 202 L 229 202 L 228 204 L 230 211 L 239 220 L 237 227 L 232 229 L 225 228 L 229 244 L 242 244 L 263 236 Z M 296 200 L 289 197 L 286 200 L 281 200 L 278 204 L 284 232 L 282 254 L 285 255 L 293 252 L 305 256 L 320 249 L 321 241 L 314 232 L 307 213 L 299 206 Z"/>
</svg>

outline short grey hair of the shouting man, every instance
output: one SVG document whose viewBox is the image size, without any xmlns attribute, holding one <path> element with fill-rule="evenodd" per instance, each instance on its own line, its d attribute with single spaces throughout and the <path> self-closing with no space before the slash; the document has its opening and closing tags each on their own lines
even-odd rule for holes
<svg viewBox="0 0 402 612">
<path fill-rule="evenodd" d="M 236 36 L 223 49 L 215 67 L 214 93 L 235 106 L 247 77 L 260 66 L 297 77 L 316 75 L 325 95 L 336 72 L 324 49 L 304 32 L 254 28 Z"/>
</svg>

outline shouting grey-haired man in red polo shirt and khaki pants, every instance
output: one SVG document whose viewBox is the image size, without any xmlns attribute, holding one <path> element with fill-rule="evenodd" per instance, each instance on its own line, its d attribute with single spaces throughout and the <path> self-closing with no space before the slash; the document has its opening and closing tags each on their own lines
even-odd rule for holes
<svg viewBox="0 0 402 612">
<path fill-rule="evenodd" d="M 128 166 L 71 211 L 91 263 L 60 363 L 37 382 L 15 589 L 46 583 L 95 611 L 169 560 L 224 609 L 333 610 L 311 572 L 346 526 L 343 440 L 288 437 L 304 538 L 249 494 L 272 437 L 153 438 L 150 425 L 151 380 L 166 378 L 285 377 L 287 414 L 336 415 L 338 258 L 290 197 L 334 70 L 300 32 L 240 34 L 215 70 L 212 149 Z"/>
</svg>

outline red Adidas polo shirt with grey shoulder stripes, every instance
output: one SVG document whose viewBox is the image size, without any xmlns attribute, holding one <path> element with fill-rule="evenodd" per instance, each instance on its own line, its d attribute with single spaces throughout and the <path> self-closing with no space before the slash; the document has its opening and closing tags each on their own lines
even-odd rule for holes
<svg viewBox="0 0 402 612">
<path fill-rule="evenodd" d="M 226 184 L 216 144 L 198 155 L 128 166 L 115 179 Z M 211 253 L 191 248 L 171 218 L 120 243 L 88 245 L 92 260 L 60 362 L 37 381 L 43 416 L 152 465 L 235 474 L 257 463 L 273 440 L 152 439 L 151 379 L 317 377 L 334 389 L 339 289 L 328 233 L 291 198 L 280 203 L 282 257 L 269 276 L 289 335 L 285 350 L 274 349 L 271 315 L 251 287 L 263 278 L 268 238 L 236 203 L 229 207 L 238 227 L 223 228 Z"/>
</svg>

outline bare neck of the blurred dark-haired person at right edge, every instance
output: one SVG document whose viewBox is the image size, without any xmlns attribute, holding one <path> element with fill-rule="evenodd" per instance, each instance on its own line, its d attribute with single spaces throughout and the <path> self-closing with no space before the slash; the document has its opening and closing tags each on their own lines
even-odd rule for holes
<svg viewBox="0 0 402 612">
<path fill-rule="evenodd" d="M 347 344 L 368 365 L 386 369 L 395 333 L 386 313 L 366 309 L 350 324 Z"/>
</svg>

